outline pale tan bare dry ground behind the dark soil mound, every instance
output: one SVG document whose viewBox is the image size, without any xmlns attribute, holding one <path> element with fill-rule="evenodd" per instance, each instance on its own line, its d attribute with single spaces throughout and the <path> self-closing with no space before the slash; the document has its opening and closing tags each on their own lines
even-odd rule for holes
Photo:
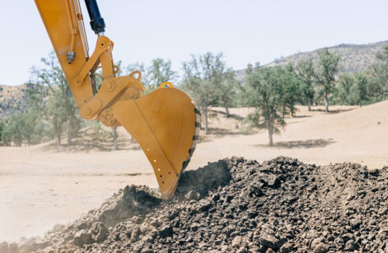
<svg viewBox="0 0 388 253">
<path fill-rule="evenodd" d="M 268 147 L 265 131 L 246 134 L 240 118 L 248 108 L 222 108 L 211 113 L 212 134 L 203 136 L 188 170 L 227 156 L 258 161 L 292 156 L 307 163 L 358 162 L 369 168 L 388 164 L 388 101 L 363 108 L 332 106 L 308 112 L 305 107 L 287 119 L 284 132 Z M 238 128 L 237 128 L 238 126 Z M 0 147 L 0 241 L 21 236 L 42 236 L 57 223 L 75 220 L 101 205 L 128 184 L 157 187 L 146 156 L 120 130 L 121 150 L 110 143 L 89 147 L 91 140 L 56 147 L 53 143 L 32 147 Z M 90 150 L 91 148 L 91 150 Z"/>
</svg>

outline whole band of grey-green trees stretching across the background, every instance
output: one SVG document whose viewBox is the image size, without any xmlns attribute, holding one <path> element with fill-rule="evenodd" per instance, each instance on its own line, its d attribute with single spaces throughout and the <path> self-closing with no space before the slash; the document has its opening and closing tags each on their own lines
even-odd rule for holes
<svg viewBox="0 0 388 253">
<path fill-rule="evenodd" d="M 340 57 L 323 49 L 316 64 L 312 59 L 305 59 L 274 67 L 248 65 L 243 83 L 236 80 L 235 71 L 227 66 L 222 53 L 192 55 L 182 63 L 180 77 L 172 69 L 171 61 L 161 58 L 150 65 L 122 66 L 121 62 L 118 65 L 120 75 L 140 70 L 146 93 L 157 89 L 161 82 L 177 84 L 199 106 L 206 134 L 211 131 L 208 124 L 211 106 L 224 107 L 227 116 L 231 107 L 253 107 L 254 111 L 245 121 L 254 128 L 266 129 L 271 146 L 273 135 L 286 125 L 285 118 L 295 115 L 296 105 L 306 105 L 309 111 L 313 105 L 325 105 L 329 111 L 330 104 L 362 106 L 386 100 L 388 46 L 376 58 L 377 63 L 364 72 L 339 74 Z M 52 139 L 57 139 L 60 145 L 63 137 L 70 145 L 72 138 L 87 124 L 79 116 L 54 53 L 42 62 L 42 68 L 33 67 L 31 71 L 27 113 L 16 113 L 0 122 L 0 141 L 5 145 L 32 145 Z M 99 75 L 95 77 L 95 90 L 98 90 L 102 80 Z M 99 131 L 95 124 L 92 129 Z M 117 143 L 115 129 L 113 136 Z"/>
</svg>

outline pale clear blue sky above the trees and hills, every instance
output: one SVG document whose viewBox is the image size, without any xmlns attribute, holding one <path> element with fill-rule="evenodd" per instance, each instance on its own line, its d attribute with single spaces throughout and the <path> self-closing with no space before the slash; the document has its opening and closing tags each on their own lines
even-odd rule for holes
<svg viewBox="0 0 388 253">
<path fill-rule="evenodd" d="M 0 84 L 28 81 L 52 45 L 32 0 L 0 0 Z M 96 36 L 85 27 L 90 52 Z M 388 39 L 388 1 L 98 0 L 113 58 L 123 64 L 170 59 L 176 71 L 191 54 L 225 55 L 243 69 L 281 56 L 338 44 Z"/>
</svg>

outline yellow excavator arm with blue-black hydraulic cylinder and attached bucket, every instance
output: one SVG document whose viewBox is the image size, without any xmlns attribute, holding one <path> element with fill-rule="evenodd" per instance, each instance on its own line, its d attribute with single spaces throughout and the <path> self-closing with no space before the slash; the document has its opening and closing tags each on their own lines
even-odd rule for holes
<svg viewBox="0 0 388 253">
<path fill-rule="evenodd" d="M 96 0 L 85 0 L 90 26 L 97 35 L 89 55 L 79 0 L 35 0 L 81 117 L 107 126 L 122 125 L 150 161 L 163 200 L 171 199 L 180 175 L 196 148 L 200 112 L 171 82 L 143 96 L 141 73 L 117 76 L 113 41 Z M 96 87 L 96 71 L 102 82 Z"/>
</svg>

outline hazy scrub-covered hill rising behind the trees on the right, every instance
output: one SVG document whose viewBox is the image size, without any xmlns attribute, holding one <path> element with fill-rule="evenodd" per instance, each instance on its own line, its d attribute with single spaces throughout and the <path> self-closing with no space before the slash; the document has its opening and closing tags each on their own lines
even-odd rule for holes
<svg viewBox="0 0 388 253">
<path fill-rule="evenodd" d="M 376 53 L 384 46 L 388 45 L 388 41 L 371 43 L 365 45 L 341 44 L 334 47 L 329 47 L 329 52 L 340 55 L 340 72 L 359 72 L 366 70 L 371 64 L 376 61 Z M 314 63 L 318 60 L 318 52 L 322 49 L 317 49 L 311 52 L 297 53 L 287 57 L 276 58 L 273 62 L 264 65 L 265 67 L 273 67 L 276 65 L 284 65 L 288 63 L 296 63 L 304 59 L 313 59 Z M 237 78 L 244 81 L 245 69 L 237 71 Z"/>
</svg>

